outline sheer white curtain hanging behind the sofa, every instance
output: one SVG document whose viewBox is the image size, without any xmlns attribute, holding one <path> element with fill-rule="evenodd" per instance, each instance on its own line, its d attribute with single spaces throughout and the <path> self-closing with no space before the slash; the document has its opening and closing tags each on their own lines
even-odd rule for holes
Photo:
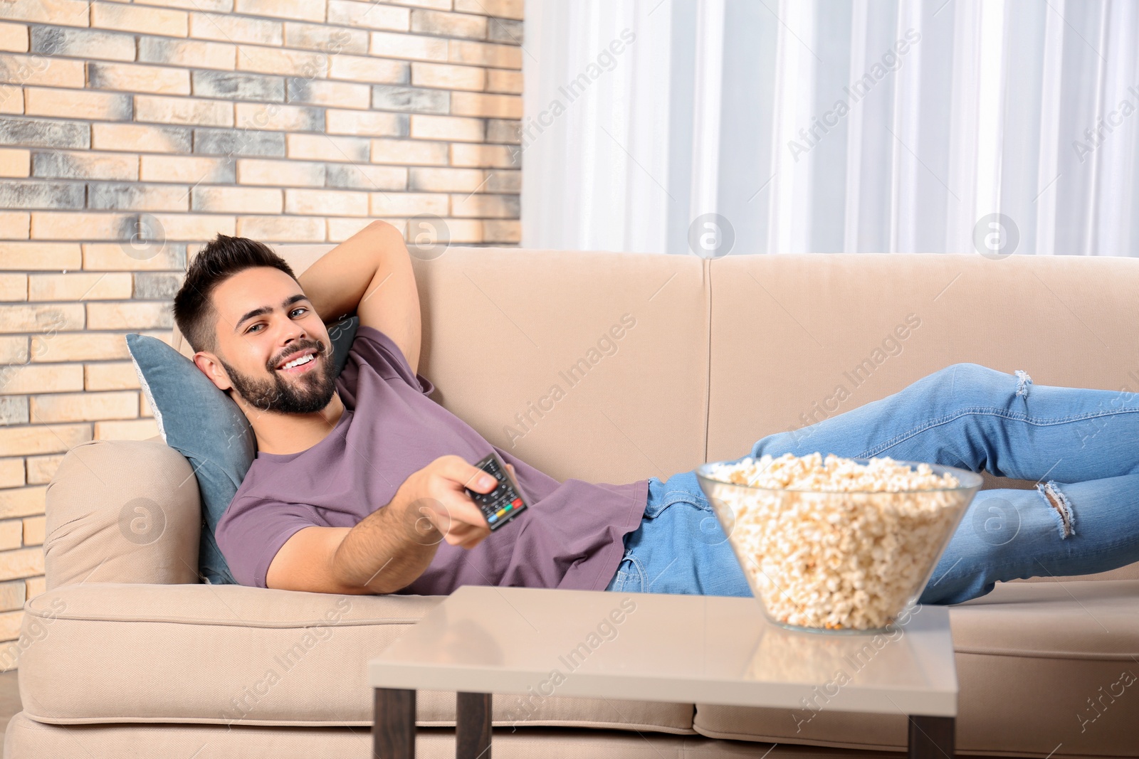
<svg viewBox="0 0 1139 759">
<path fill-rule="evenodd" d="M 1136 255 L 1132 0 L 527 0 L 522 244 Z"/>
</svg>

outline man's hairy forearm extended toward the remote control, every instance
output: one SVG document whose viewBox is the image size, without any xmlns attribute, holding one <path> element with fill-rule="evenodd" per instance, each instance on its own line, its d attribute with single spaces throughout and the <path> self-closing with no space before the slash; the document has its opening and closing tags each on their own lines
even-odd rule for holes
<svg viewBox="0 0 1139 759">
<path fill-rule="evenodd" d="M 333 571 L 345 587 L 394 593 L 424 574 L 441 539 L 428 519 L 393 502 L 349 530 Z"/>
</svg>

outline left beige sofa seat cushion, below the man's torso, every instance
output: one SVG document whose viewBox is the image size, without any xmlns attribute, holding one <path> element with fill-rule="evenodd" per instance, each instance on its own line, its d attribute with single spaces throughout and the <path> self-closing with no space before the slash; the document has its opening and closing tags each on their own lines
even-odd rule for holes
<svg viewBox="0 0 1139 759">
<path fill-rule="evenodd" d="M 370 726 L 367 662 L 444 596 L 330 595 L 241 585 L 82 583 L 32 599 L 19 694 L 40 723 Z M 694 734 L 691 703 L 494 699 L 493 724 Z M 417 724 L 454 725 L 420 691 Z"/>
</svg>

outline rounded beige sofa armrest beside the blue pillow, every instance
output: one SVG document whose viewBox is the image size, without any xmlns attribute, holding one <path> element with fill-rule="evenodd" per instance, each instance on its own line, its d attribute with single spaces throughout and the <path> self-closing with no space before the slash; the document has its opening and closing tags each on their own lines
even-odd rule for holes
<svg viewBox="0 0 1139 759">
<path fill-rule="evenodd" d="M 182 454 L 157 438 L 91 440 L 47 492 L 47 588 L 76 583 L 198 583 L 202 501 Z"/>
</svg>

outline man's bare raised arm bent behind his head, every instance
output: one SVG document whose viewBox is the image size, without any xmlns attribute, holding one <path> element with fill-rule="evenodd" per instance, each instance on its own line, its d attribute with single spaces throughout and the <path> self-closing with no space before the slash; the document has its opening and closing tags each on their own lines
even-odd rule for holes
<svg viewBox="0 0 1139 759">
<path fill-rule="evenodd" d="M 321 256 L 297 281 L 326 324 L 357 312 L 361 327 L 392 338 L 418 371 L 419 292 L 400 230 L 374 221 Z"/>
</svg>

